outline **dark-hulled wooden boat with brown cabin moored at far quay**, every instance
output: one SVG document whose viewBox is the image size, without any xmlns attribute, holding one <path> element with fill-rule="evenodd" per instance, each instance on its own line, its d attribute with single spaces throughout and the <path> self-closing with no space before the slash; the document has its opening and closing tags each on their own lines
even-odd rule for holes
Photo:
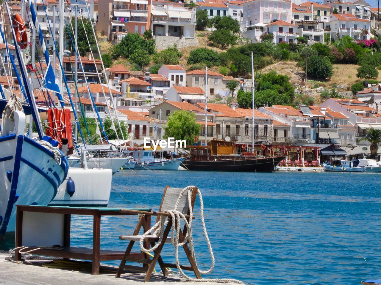
<svg viewBox="0 0 381 285">
<path fill-rule="evenodd" d="M 192 146 L 181 166 L 188 170 L 273 172 L 285 157 L 276 155 L 237 154 L 231 141 L 210 141 L 208 146 Z"/>
</svg>

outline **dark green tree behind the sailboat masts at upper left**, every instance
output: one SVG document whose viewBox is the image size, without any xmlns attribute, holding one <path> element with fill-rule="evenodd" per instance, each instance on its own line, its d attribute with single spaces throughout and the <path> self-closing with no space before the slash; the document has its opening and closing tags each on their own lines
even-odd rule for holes
<svg viewBox="0 0 381 285">
<path fill-rule="evenodd" d="M 75 25 L 75 19 L 73 17 L 71 21 L 71 26 L 69 26 L 70 35 L 73 41 L 76 40 L 74 37 L 74 32 L 71 30 L 71 27 L 74 27 L 74 25 Z M 66 42 L 70 43 L 69 44 L 70 50 L 74 51 L 74 47 L 71 44 L 69 32 L 67 31 L 67 28 L 65 28 L 64 30 L 65 30 L 64 36 L 65 36 Z M 77 45 L 78 45 L 79 54 L 81 56 L 86 56 L 87 53 L 90 52 L 90 46 L 86 40 L 85 30 L 87 33 L 87 37 L 89 39 L 90 46 L 96 44 L 94 34 L 93 34 L 93 29 L 91 28 L 91 22 L 88 19 L 83 19 L 83 25 L 82 25 L 82 22 L 78 22 Z"/>
</svg>

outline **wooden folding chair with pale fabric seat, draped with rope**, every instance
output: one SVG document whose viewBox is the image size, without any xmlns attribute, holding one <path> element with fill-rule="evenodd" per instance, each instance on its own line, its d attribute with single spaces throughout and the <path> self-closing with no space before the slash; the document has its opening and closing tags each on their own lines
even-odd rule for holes
<svg viewBox="0 0 381 285">
<path fill-rule="evenodd" d="M 154 257 L 150 259 L 150 256 L 147 254 L 144 254 L 144 258 L 136 258 L 136 253 L 131 253 L 132 247 L 135 242 L 138 242 L 142 237 L 142 235 L 139 235 L 139 231 L 141 228 L 143 228 L 144 232 L 148 231 L 150 229 L 150 226 L 147 225 L 147 222 L 145 220 L 144 215 L 140 215 L 139 222 L 136 225 L 136 228 L 134 230 L 133 235 L 131 236 L 120 236 L 120 239 L 123 240 L 129 240 L 129 244 L 127 246 L 126 252 L 123 256 L 122 261 L 120 262 L 120 266 L 118 268 L 117 273 L 115 274 L 115 277 L 120 277 L 120 274 L 122 273 L 123 269 L 127 269 L 130 271 L 138 271 L 138 272 L 146 272 L 146 276 L 144 277 L 144 281 L 147 282 L 149 281 L 152 272 L 154 271 L 156 263 L 159 264 L 162 273 L 164 276 L 168 276 L 168 270 L 166 268 L 177 268 L 175 263 L 165 263 L 160 255 L 163 246 L 165 242 L 171 242 L 171 237 L 168 237 L 168 234 L 170 233 L 171 226 L 173 221 L 171 220 L 171 216 L 167 213 L 164 213 L 163 211 L 165 210 L 172 210 L 175 207 L 176 201 L 182 192 L 182 188 L 170 188 L 169 186 L 166 186 L 164 189 L 164 194 L 162 198 L 162 202 L 160 204 L 160 208 L 158 212 L 149 212 L 147 215 L 154 215 L 157 216 L 156 222 L 157 223 L 160 220 L 161 216 L 166 216 L 168 217 L 168 223 L 165 226 L 165 229 L 163 231 L 163 237 L 162 237 L 162 242 L 160 245 L 157 247 L 156 250 L 154 250 Z M 197 195 L 197 187 L 192 188 L 192 194 L 191 194 L 191 207 L 193 209 L 195 199 Z M 128 210 L 126 210 L 128 211 Z M 181 197 L 181 200 L 178 205 L 178 211 L 182 212 L 182 214 L 186 215 L 186 218 L 189 222 L 189 204 L 188 204 L 188 195 L 187 193 L 184 193 Z M 194 218 L 194 217 L 192 217 Z M 174 221 L 176 222 L 176 221 Z M 179 243 L 184 241 L 184 237 L 186 236 L 186 227 L 184 226 L 184 229 L 180 231 L 179 233 Z M 155 244 L 159 241 L 159 236 L 146 236 L 144 241 L 145 241 L 145 248 L 149 248 L 149 246 L 154 247 Z M 196 262 L 194 258 L 192 257 L 191 251 L 188 247 L 188 244 L 183 245 L 185 254 L 189 260 L 190 266 L 185 266 L 181 265 L 181 269 L 185 270 L 190 270 L 193 271 L 194 274 L 196 275 L 197 279 L 202 279 L 201 274 L 199 270 L 197 269 Z M 142 263 L 143 266 L 132 266 L 132 265 L 126 265 L 126 261 L 131 261 L 131 262 L 136 262 L 136 263 Z"/>
</svg>

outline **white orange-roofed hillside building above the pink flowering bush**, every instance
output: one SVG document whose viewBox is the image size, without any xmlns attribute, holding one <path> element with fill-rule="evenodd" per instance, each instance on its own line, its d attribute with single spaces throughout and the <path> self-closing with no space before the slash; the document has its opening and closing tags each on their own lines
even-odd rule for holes
<svg viewBox="0 0 381 285">
<path fill-rule="evenodd" d="M 370 20 L 352 14 L 331 14 L 330 33 L 333 39 L 351 36 L 355 40 L 370 39 Z"/>
</svg>

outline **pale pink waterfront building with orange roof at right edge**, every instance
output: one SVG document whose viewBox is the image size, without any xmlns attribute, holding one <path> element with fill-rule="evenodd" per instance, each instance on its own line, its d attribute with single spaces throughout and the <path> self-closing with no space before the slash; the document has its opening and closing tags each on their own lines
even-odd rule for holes
<svg viewBox="0 0 381 285">
<path fill-rule="evenodd" d="M 381 116 L 377 114 L 376 109 L 369 107 L 365 102 L 356 99 L 329 98 L 319 106 L 328 107 L 348 118 L 346 121 L 347 126 L 355 128 L 352 133 L 352 135 L 354 134 L 355 144 L 368 145 L 368 142 L 359 142 L 359 139 L 366 135 L 367 128 L 381 129 Z M 347 134 L 351 139 L 349 131 Z"/>
</svg>

